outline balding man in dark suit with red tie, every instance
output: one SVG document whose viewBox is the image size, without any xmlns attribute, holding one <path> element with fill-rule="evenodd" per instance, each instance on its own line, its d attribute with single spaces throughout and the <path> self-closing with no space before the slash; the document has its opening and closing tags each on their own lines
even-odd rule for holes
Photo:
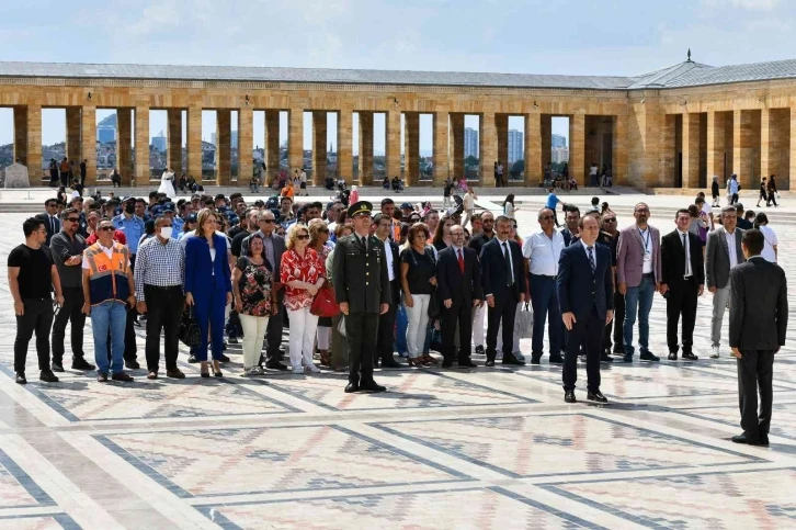
<svg viewBox="0 0 796 530">
<path fill-rule="evenodd" d="M 436 289 L 442 300 L 442 368 L 453 365 L 458 325 L 458 367 L 475 368 L 470 360 L 473 307 L 481 303 L 481 277 L 476 251 L 464 246 L 464 228 L 451 227 L 451 246 L 436 260 Z"/>
</svg>

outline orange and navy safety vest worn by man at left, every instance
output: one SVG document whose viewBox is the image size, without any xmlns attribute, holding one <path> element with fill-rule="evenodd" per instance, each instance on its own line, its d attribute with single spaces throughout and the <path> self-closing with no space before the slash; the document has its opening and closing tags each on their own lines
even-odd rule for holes
<svg viewBox="0 0 796 530">
<path fill-rule="evenodd" d="M 129 297 L 127 267 L 129 250 L 124 245 L 113 243 L 113 252 L 109 258 L 99 243 L 83 251 L 83 260 L 89 264 L 89 296 L 91 305 L 99 305 L 109 300 L 126 303 Z"/>
</svg>

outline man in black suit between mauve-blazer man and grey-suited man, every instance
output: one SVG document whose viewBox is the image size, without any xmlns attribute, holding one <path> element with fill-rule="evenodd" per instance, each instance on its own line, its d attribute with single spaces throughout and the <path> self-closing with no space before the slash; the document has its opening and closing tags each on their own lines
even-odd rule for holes
<svg viewBox="0 0 796 530">
<path fill-rule="evenodd" d="M 705 290 L 705 268 L 700 238 L 689 232 L 691 215 L 678 210 L 675 230 L 662 237 L 660 292 L 667 298 L 669 360 L 678 360 L 678 324 L 683 316 L 683 359 L 696 361 L 692 350 L 696 324 L 696 300 Z"/>
</svg>

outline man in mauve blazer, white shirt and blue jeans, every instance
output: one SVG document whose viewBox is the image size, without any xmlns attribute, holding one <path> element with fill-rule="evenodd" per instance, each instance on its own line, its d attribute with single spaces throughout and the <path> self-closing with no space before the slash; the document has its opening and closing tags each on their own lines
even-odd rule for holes
<svg viewBox="0 0 796 530">
<path fill-rule="evenodd" d="M 616 246 L 616 277 L 619 281 L 619 293 L 625 296 L 625 362 L 633 362 L 633 326 L 638 312 L 638 347 L 639 359 L 659 361 L 649 351 L 649 312 L 652 298 L 660 287 L 660 232 L 647 224 L 649 206 L 643 202 L 636 204 L 633 216 L 636 224 L 619 233 Z"/>
</svg>

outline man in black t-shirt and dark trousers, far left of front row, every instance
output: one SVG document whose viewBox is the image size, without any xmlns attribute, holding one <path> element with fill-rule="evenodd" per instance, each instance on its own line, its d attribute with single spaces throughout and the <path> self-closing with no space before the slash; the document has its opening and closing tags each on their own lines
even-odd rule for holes
<svg viewBox="0 0 796 530">
<path fill-rule="evenodd" d="M 53 324 L 53 291 L 56 294 L 56 304 L 64 305 L 60 279 L 50 249 L 45 245 L 47 232 L 44 222 L 30 217 L 22 224 L 22 232 L 25 243 L 11 250 L 8 259 L 9 291 L 16 315 L 15 380 L 19 384 L 27 383 L 27 345 L 35 332 L 41 371 L 38 379 L 46 383 L 57 383 L 58 377 L 49 368 L 49 327 Z"/>
</svg>

